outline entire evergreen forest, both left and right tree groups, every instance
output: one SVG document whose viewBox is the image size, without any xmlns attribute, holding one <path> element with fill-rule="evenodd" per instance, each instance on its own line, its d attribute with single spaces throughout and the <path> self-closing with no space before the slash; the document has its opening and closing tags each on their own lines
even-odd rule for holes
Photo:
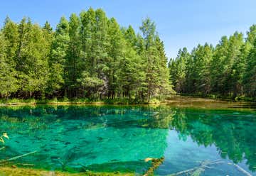
<svg viewBox="0 0 256 176">
<path fill-rule="evenodd" d="M 168 63 L 156 24 L 136 33 L 102 9 L 88 9 L 55 30 L 6 17 L 0 31 L 1 99 L 133 99 L 172 94 L 256 97 L 256 25 L 223 36 L 216 46 L 183 48 Z"/>
</svg>

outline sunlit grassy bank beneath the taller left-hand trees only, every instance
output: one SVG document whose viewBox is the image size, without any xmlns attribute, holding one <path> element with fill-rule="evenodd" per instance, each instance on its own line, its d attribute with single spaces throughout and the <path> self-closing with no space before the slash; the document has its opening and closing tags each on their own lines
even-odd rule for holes
<svg viewBox="0 0 256 176">
<path fill-rule="evenodd" d="M 0 99 L 1 106 L 8 105 L 36 105 L 36 104 L 161 104 L 163 101 L 151 99 L 147 101 L 139 101 L 136 99 Z"/>
</svg>

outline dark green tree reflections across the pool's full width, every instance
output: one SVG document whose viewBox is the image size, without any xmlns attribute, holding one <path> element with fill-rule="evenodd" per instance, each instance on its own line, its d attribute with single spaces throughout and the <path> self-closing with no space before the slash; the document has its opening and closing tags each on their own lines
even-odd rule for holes
<svg viewBox="0 0 256 176">
<path fill-rule="evenodd" d="M 118 116 L 116 116 L 118 115 Z M 186 141 L 191 136 L 199 145 L 215 145 L 222 158 L 235 163 L 247 159 L 256 170 L 256 118 L 234 111 L 171 109 L 169 106 L 28 106 L 0 108 L 1 129 L 10 131 L 26 123 L 31 131 L 48 128 L 50 123 L 86 120 L 74 128 L 165 128 L 174 129 Z M 65 124 L 59 124 L 65 126 Z M 59 126 L 58 128 L 60 128 Z M 24 131 L 24 128 L 19 129 Z M 9 132 L 9 133 L 10 133 Z M 164 133 L 163 133 L 164 134 Z M 156 135 L 157 136 L 157 135 Z M 134 137 L 136 138 L 136 137 Z M 161 139 L 166 145 L 166 136 Z M 159 142 L 160 143 L 160 142 Z"/>
</svg>

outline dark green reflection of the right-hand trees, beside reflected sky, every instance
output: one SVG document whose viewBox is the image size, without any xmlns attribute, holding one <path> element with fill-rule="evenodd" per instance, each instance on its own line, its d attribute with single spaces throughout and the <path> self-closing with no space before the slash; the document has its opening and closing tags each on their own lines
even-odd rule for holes
<svg viewBox="0 0 256 176">
<path fill-rule="evenodd" d="M 191 136 L 199 145 L 215 145 L 222 158 L 228 157 L 235 163 L 246 158 L 250 170 L 256 170 L 255 116 L 178 110 L 169 126 L 183 139 Z"/>
</svg>

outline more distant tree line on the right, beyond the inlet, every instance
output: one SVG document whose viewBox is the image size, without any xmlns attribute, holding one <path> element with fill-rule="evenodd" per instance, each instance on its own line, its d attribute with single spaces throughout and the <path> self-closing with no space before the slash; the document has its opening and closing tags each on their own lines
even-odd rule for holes
<svg viewBox="0 0 256 176">
<path fill-rule="evenodd" d="M 218 45 L 206 43 L 178 51 L 169 62 L 174 89 L 186 94 L 256 97 L 256 25 L 247 37 L 235 32 Z"/>
</svg>

